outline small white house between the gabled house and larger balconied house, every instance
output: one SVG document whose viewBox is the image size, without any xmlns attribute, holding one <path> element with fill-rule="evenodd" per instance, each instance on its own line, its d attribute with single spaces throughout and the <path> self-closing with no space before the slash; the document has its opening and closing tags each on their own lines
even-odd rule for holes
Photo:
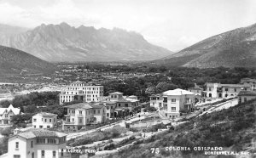
<svg viewBox="0 0 256 158">
<path fill-rule="evenodd" d="M 57 115 L 40 112 L 35 116 L 32 116 L 32 126 L 34 128 L 51 128 L 57 123 Z"/>
</svg>

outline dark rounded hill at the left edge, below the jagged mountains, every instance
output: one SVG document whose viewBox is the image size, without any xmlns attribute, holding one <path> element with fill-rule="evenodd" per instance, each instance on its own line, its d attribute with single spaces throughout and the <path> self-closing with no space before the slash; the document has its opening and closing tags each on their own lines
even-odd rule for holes
<svg viewBox="0 0 256 158">
<path fill-rule="evenodd" d="M 15 48 L 0 46 L 0 74 L 48 73 L 54 66 Z"/>
</svg>

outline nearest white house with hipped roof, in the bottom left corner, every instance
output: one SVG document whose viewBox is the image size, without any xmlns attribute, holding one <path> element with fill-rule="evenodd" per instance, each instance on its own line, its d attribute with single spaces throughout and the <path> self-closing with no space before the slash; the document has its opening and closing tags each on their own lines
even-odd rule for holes
<svg viewBox="0 0 256 158">
<path fill-rule="evenodd" d="M 67 134 L 44 129 L 17 133 L 9 138 L 9 158 L 67 158 Z M 60 151 L 63 152 L 60 152 Z"/>
</svg>

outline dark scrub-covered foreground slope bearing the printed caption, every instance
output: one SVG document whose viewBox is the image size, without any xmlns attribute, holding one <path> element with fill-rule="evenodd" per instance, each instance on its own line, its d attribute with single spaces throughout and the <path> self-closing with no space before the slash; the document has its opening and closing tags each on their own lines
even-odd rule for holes
<svg viewBox="0 0 256 158">
<path fill-rule="evenodd" d="M 238 104 L 230 109 L 193 118 L 174 130 L 137 142 L 127 150 L 107 157 L 208 157 L 194 147 L 222 147 L 222 151 L 247 151 L 253 157 L 256 144 L 256 100 Z M 187 147 L 190 150 L 166 151 L 166 147 Z M 159 148 L 160 154 L 152 154 Z M 213 155 L 212 157 L 221 157 Z M 224 156 L 224 155 L 223 155 Z M 96 156 L 95 156 L 96 157 Z"/>
</svg>

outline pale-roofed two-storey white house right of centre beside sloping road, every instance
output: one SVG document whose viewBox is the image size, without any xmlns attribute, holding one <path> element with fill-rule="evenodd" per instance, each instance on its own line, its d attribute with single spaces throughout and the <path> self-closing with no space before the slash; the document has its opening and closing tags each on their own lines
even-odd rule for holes
<svg viewBox="0 0 256 158">
<path fill-rule="evenodd" d="M 158 109 L 162 116 L 175 118 L 183 110 L 193 110 L 195 107 L 195 93 L 174 89 L 150 97 L 150 106 Z"/>
</svg>

